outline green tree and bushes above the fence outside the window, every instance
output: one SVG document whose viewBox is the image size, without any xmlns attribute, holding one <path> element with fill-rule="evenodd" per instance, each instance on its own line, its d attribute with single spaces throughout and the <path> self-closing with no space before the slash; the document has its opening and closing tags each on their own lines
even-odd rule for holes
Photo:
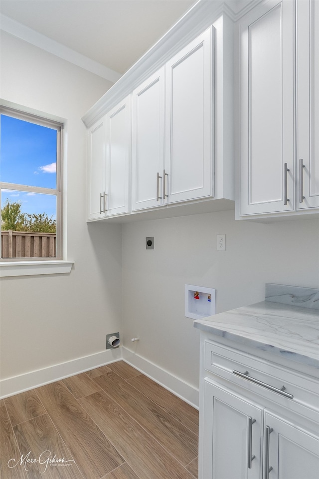
<svg viewBox="0 0 319 479">
<path fill-rule="evenodd" d="M 7 199 L 1 209 L 1 230 L 56 233 L 56 220 L 46 213 L 21 213 L 21 201 L 10 203 Z"/>
</svg>

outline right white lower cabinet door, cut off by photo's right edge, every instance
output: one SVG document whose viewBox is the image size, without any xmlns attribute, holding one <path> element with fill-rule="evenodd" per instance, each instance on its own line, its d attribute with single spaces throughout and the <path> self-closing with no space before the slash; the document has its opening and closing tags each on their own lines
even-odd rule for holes
<svg viewBox="0 0 319 479">
<path fill-rule="evenodd" d="M 266 426 L 273 429 L 269 434 L 269 454 L 265 452 L 265 469 L 272 468 L 269 479 L 318 479 L 319 438 L 270 413 L 265 414 L 264 424 L 265 445 Z"/>
</svg>

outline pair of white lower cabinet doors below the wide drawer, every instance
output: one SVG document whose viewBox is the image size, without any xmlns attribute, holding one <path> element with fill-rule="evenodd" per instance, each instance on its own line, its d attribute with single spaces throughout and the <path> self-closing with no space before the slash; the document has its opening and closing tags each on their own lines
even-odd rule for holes
<svg viewBox="0 0 319 479">
<path fill-rule="evenodd" d="M 319 438 L 204 382 L 200 479 L 318 479 Z"/>
</svg>

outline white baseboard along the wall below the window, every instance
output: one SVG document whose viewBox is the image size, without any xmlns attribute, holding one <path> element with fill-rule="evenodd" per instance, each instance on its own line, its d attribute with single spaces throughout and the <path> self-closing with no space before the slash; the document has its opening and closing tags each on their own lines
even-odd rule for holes
<svg viewBox="0 0 319 479">
<path fill-rule="evenodd" d="M 60 379 L 84 373 L 85 371 L 113 363 L 114 361 L 119 361 L 122 358 L 121 350 L 122 348 L 105 350 L 83 358 L 55 364 L 48 368 L 3 379 L 0 381 L 0 399 L 23 393 L 24 391 L 29 391 L 30 389 L 38 388 L 45 384 L 54 383 Z"/>
</svg>

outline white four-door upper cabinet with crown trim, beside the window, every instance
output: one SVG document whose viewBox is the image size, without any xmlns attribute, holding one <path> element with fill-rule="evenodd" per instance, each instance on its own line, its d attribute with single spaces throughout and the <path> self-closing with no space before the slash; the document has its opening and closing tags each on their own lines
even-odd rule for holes
<svg viewBox="0 0 319 479">
<path fill-rule="evenodd" d="M 83 116 L 88 221 L 234 208 L 234 21 L 224 10 L 195 3 Z"/>
</svg>

